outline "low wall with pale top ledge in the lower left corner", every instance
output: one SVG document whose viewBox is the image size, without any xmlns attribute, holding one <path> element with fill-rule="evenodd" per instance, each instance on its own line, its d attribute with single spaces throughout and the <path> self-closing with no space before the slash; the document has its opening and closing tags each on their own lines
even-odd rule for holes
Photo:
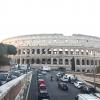
<svg viewBox="0 0 100 100">
<path fill-rule="evenodd" d="M 0 100 L 25 100 L 32 79 L 28 72 L 0 87 Z"/>
</svg>

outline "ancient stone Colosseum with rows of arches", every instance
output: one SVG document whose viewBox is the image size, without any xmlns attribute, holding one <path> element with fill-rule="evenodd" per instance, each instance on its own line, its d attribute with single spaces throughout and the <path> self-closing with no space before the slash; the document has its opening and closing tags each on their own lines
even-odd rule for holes
<svg viewBox="0 0 100 100">
<path fill-rule="evenodd" d="M 30 64 L 33 68 L 44 65 L 51 68 L 91 72 L 100 65 L 100 38 L 73 34 L 33 34 L 2 41 L 17 47 L 12 60 L 17 64 Z"/>
</svg>

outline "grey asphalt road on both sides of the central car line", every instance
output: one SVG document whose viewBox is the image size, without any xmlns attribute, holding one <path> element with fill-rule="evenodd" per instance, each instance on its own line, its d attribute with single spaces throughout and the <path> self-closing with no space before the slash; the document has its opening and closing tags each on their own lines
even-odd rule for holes
<svg viewBox="0 0 100 100">
<path fill-rule="evenodd" d="M 46 81 L 46 87 L 48 90 L 48 93 L 50 95 L 50 100 L 75 100 L 75 96 L 79 93 L 79 90 L 74 87 L 73 84 L 68 84 L 69 90 L 63 91 L 60 90 L 57 87 L 57 81 L 55 79 L 55 72 L 48 72 L 46 75 L 44 75 L 44 80 Z M 50 81 L 50 76 L 54 76 L 54 80 Z M 37 85 L 36 85 L 36 75 L 33 75 L 30 92 L 29 92 L 29 98 L 28 100 L 37 100 Z"/>
</svg>

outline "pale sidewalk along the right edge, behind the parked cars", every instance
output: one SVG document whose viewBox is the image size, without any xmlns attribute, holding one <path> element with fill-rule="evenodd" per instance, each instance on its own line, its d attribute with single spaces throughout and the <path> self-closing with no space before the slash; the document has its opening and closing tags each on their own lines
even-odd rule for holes
<svg viewBox="0 0 100 100">
<path fill-rule="evenodd" d="M 81 75 L 75 75 L 78 79 L 80 79 L 80 80 L 84 80 L 84 81 L 89 81 L 89 82 L 94 82 L 94 78 L 93 77 L 87 77 L 87 76 L 84 76 L 83 74 L 81 74 Z M 92 84 L 90 84 L 90 83 L 88 83 L 88 82 L 86 82 L 87 84 L 89 84 L 89 85 L 92 85 Z M 97 84 L 100 84 L 100 79 L 99 78 L 95 78 L 95 83 L 97 83 Z M 92 85 L 93 86 L 93 85 Z M 98 90 L 98 91 L 100 91 L 100 88 L 98 88 L 98 87 L 96 87 L 96 89 Z"/>
</svg>

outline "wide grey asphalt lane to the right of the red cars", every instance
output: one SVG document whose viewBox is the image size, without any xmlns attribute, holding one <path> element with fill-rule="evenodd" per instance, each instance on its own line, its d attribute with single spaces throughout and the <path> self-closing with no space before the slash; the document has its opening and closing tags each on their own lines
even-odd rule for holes
<svg viewBox="0 0 100 100">
<path fill-rule="evenodd" d="M 51 75 L 54 76 L 54 73 L 47 73 L 47 75 L 44 77 L 51 100 L 75 100 L 75 96 L 79 93 L 79 89 L 77 89 L 73 84 L 69 83 L 68 91 L 60 90 L 58 88 L 55 76 L 53 81 L 50 80 Z"/>
</svg>

